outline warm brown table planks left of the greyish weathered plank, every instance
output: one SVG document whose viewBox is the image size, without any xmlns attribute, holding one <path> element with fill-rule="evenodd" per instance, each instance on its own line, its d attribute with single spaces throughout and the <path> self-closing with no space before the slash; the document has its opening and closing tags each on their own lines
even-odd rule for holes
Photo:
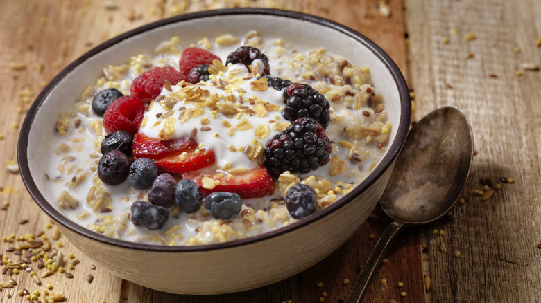
<svg viewBox="0 0 541 303">
<path fill-rule="evenodd" d="M 257 6 L 282 8 L 308 12 L 333 19 L 358 30 L 374 40 L 386 50 L 402 69 L 406 77 L 406 56 L 404 46 L 404 15 L 402 1 L 386 1 L 390 16 L 379 12 L 377 0 L 339 0 L 339 1 L 175 1 L 145 0 L 133 1 L 2 1 L 0 3 L 0 89 L 3 92 L 0 111 L 0 134 L 3 152 L 2 163 L 16 160 L 18 128 L 24 113 L 40 89 L 58 73 L 85 51 L 126 30 L 171 17 L 184 12 L 203 9 Z M 106 4 L 110 8 L 106 8 Z M 113 6 L 115 4 L 116 6 Z M 42 68 L 41 68 L 41 67 Z M 24 93 L 24 87 L 30 90 Z M 46 284 L 53 289 L 49 292 L 63 293 L 67 302 L 338 302 L 343 299 L 351 282 L 359 272 L 358 268 L 368 257 L 368 252 L 386 226 L 385 217 L 379 213 L 379 219 L 372 219 L 363 224 L 357 233 L 333 255 L 309 270 L 282 282 L 253 291 L 217 296 L 171 295 L 143 288 L 106 273 L 102 268 L 92 270 L 90 261 L 63 237 L 52 240 L 54 227 L 47 228 L 49 218 L 41 212 L 24 190 L 18 174 L 7 169 L 0 169 L 0 187 L 2 201 L 9 202 L 6 210 L 0 211 L 0 235 L 34 235 L 44 232 L 51 240 L 53 248 L 65 255 L 67 264 L 74 260 L 80 263 L 74 266 L 74 278 L 55 273 L 42 278 L 42 285 L 34 284 L 31 275 L 19 273 L 11 277 L 2 275 L 0 279 L 12 278 L 18 282 L 15 288 L 3 290 L 17 302 L 26 302 L 24 297 L 16 295 L 23 288 L 28 291 L 43 291 Z M 2 204 L 0 204 L 1 206 Z M 376 217 L 375 217 L 376 218 Z M 28 219 L 28 223 L 19 224 L 19 219 Z M 373 234 L 374 238 L 370 235 Z M 388 263 L 381 264 L 375 274 L 372 286 L 363 302 L 420 302 L 424 300 L 422 285 L 422 261 L 419 232 L 406 230 L 403 236 L 387 254 Z M 6 248 L 15 247 L 16 243 L 3 242 L 1 252 L 12 260 L 19 257 Z M 62 247 L 60 247 L 62 246 Z M 74 254 L 74 259 L 67 255 Z M 286 263 L 287 260 L 284 260 Z M 38 269 L 37 263 L 31 267 L 40 275 L 44 269 Z M 67 266 L 66 264 L 66 266 Z M 93 275 L 91 284 L 86 282 L 87 275 Z M 380 281 L 387 279 L 389 287 L 382 290 Z M 318 283 L 323 286 L 318 286 Z M 404 288 L 397 288 L 397 282 L 404 282 Z M 212 287 L 212 286 L 209 286 Z M 84 290 L 84 291 L 82 291 Z M 113 290 L 113 291 L 112 291 Z M 400 297 L 401 291 L 408 295 Z M 325 297 L 323 292 L 327 294 Z"/>
</svg>

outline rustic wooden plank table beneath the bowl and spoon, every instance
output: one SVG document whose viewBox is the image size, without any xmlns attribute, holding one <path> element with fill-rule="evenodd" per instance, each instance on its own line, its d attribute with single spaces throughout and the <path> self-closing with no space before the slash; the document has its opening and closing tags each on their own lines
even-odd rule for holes
<svg viewBox="0 0 541 303">
<path fill-rule="evenodd" d="M 56 239 L 55 226 L 33 203 L 19 174 L 11 172 L 18 126 L 40 89 L 63 66 L 105 39 L 148 22 L 235 6 L 309 12 L 359 30 L 402 69 L 414 94 L 414 120 L 447 104 L 470 118 L 477 154 L 464 203 L 444 220 L 405 230 L 377 269 L 363 302 L 541 302 L 541 250 L 536 246 L 541 242 L 541 73 L 535 70 L 541 64 L 541 2 L 533 0 L 2 1 L 1 253 L 18 261 L 22 256 L 10 250 L 22 242 L 10 243 L 10 235 L 43 233 L 65 255 L 73 277 L 58 272 L 41 277 L 46 268 L 31 262 L 42 284 L 35 284 L 24 268 L 18 274 L 8 270 L 0 281 L 12 279 L 17 285 L 2 288 L 0 302 L 26 302 L 17 291 L 42 292 L 47 284 L 49 293 L 64 294 L 67 302 L 343 300 L 351 286 L 345 279 L 354 280 L 388 223 L 378 210 L 334 254 L 282 282 L 228 295 L 171 295 L 92 269 L 92 261 L 65 238 Z M 490 184 L 486 180 L 493 187 L 483 189 Z M 89 275 L 94 277 L 90 284 Z M 425 275 L 431 278 L 429 291 Z M 386 289 L 381 279 L 388 282 Z"/>
</svg>

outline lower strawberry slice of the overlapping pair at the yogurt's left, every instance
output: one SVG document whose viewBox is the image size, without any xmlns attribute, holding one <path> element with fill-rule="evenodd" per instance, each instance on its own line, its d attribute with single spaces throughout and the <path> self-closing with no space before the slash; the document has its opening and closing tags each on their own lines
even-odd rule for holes
<svg viewBox="0 0 541 303">
<path fill-rule="evenodd" d="M 184 154 L 186 153 L 186 154 Z M 214 164 L 214 151 L 209 148 L 192 148 L 184 152 L 175 152 L 160 159 L 155 159 L 154 163 L 160 172 L 169 172 L 173 174 L 193 172 Z"/>
</svg>

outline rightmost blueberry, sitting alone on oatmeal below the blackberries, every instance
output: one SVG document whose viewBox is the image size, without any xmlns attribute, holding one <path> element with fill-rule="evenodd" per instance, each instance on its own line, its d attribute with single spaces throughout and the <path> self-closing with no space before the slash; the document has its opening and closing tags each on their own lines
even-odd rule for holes
<svg viewBox="0 0 541 303">
<path fill-rule="evenodd" d="M 302 219 L 316 211 L 318 194 L 316 194 L 314 188 L 308 185 L 297 184 L 289 188 L 284 201 L 291 217 Z"/>
</svg>

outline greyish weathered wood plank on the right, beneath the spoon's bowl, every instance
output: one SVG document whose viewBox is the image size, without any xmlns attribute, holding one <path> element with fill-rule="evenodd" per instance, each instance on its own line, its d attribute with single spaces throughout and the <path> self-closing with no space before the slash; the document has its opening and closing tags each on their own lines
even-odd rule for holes
<svg viewBox="0 0 541 303">
<path fill-rule="evenodd" d="M 478 154 L 449 223 L 426 230 L 433 302 L 540 302 L 539 1 L 406 1 L 410 84 L 418 115 L 453 104 Z M 465 40 L 472 33 L 476 39 Z M 444 38 L 449 40 L 443 43 Z M 517 76 L 517 71 L 522 76 Z M 503 184 L 488 201 L 481 178 Z M 433 235 L 433 228 L 445 236 Z M 440 250 L 442 240 L 448 251 Z M 454 257 L 454 250 L 461 252 Z"/>
</svg>

